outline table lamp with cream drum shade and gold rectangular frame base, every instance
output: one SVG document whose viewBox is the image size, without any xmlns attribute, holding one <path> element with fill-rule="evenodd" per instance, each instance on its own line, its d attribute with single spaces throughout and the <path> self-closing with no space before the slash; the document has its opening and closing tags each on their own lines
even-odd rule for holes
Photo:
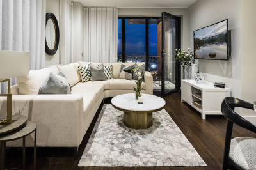
<svg viewBox="0 0 256 170">
<path fill-rule="evenodd" d="M 0 97 L 7 97 L 7 116 L 0 119 L 0 124 L 12 124 L 12 94 L 11 79 L 29 74 L 29 52 L 4 51 L 0 50 L 0 82 L 8 82 L 6 94 Z"/>
</svg>

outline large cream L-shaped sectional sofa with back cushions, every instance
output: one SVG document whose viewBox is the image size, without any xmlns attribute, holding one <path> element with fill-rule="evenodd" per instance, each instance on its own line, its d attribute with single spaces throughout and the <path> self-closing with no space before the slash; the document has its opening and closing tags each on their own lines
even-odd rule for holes
<svg viewBox="0 0 256 170">
<path fill-rule="evenodd" d="M 81 143 L 84 134 L 99 109 L 104 98 L 124 93 L 134 93 L 135 80 L 118 79 L 122 63 L 104 63 L 113 65 L 113 78 L 106 81 L 81 82 L 78 66 L 89 63 L 77 62 L 64 66 L 53 66 L 42 70 L 30 71 L 29 75 L 17 77 L 12 86 L 13 114 L 22 114 L 37 124 L 37 146 L 74 147 Z M 93 63 L 94 65 L 100 63 Z M 134 63 L 123 63 L 132 65 Z M 143 63 L 138 63 L 142 65 Z M 38 95 L 40 85 L 50 72 L 64 73 L 72 94 Z M 153 79 L 145 72 L 145 89 L 142 93 L 153 93 Z M 6 98 L 0 98 L 0 116 L 6 114 Z M 21 141 L 7 143 L 7 146 L 22 146 Z M 26 146 L 33 146 L 33 135 L 27 137 Z"/>
</svg>

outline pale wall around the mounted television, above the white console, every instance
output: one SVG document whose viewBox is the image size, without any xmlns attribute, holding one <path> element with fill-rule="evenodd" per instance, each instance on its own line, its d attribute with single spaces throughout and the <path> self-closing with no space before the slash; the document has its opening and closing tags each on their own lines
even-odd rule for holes
<svg viewBox="0 0 256 170">
<path fill-rule="evenodd" d="M 229 61 L 196 60 L 208 81 L 225 82 L 232 97 L 241 98 L 241 0 L 198 0 L 188 8 L 188 46 L 193 47 L 193 31 L 228 19 L 232 56 Z"/>
</svg>

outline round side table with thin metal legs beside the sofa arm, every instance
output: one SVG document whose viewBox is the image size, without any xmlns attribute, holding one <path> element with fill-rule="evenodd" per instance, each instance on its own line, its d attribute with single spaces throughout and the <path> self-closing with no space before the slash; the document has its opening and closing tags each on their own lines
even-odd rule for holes
<svg viewBox="0 0 256 170">
<path fill-rule="evenodd" d="M 18 118 L 17 118 L 18 117 Z M 34 168 L 36 169 L 36 123 L 33 121 L 25 121 L 23 125 L 19 128 L 17 128 L 17 125 L 20 124 L 20 120 L 24 120 L 25 116 L 13 116 L 13 120 L 16 119 L 16 121 L 13 121 L 11 125 L 1 125 L 0 126 L 0 143 L 1 143 L 1 164 L 0 164 L 0 170 L 5 169 L 5 156 L 6 156 L 6 142 L 8 141 L 15 141 L 17 139 L 23 139 L 23 169 L 25 169 L 25 144 L 26 144 L 26 136 L 29 134 L 35 132 L 35 140 L 34 140 Z M 26 117 L 25 117 L 26 118 Z M 22 121 L 20 121 L 22 123 Z M 16 124 L 14 124 L 16 123 Z M 13 125 L 14 124 L 14 125 Z M 15 128 L 16 127 L 16 128 Z M 12 130 L 14 128 L 15 130 Z M 6 133 L 6 130 L 8 132 Z"/>
</svg>

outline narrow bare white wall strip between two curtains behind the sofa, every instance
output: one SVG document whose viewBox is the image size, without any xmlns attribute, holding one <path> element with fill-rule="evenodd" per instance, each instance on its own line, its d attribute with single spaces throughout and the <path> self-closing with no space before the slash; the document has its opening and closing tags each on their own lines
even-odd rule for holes
<svg viewBox="0 0 256 170">
<path fill-rule="evenodd" d="M 84 61 L 84 6 L 73 3 L 73 61 Z"/>
</svg>

